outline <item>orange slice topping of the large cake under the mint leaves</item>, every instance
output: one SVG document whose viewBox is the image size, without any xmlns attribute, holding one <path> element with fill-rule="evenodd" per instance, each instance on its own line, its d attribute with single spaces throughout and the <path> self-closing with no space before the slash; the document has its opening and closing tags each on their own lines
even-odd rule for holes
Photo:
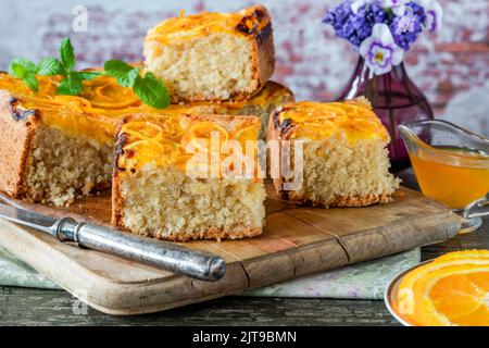
<svg viewBox="0 0 489 348">
<path fill-rule="evenodd" d="M 117 122 L 130 113 L 154 112 L 140 102 L 130 88 L 108 76 L 84 80 L 80 96 L 57 94 L 60 76 L 37 76 L 39 90 L 30 90 L 21 79 L 0 74 L 0 89 L 9 90 L 25 109 L 39 110 L 45 124 L 73 136 L 86 135 L 111 145 Z"/>
</svg>

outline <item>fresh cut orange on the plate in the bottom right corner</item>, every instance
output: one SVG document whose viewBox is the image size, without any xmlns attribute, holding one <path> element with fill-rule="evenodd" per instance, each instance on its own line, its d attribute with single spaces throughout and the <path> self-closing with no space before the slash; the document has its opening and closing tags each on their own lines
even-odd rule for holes
<svg viewBox="0 0 489 348">
<path fill-rule="evenodd" d="M 394 309 L 419 325 L 489 325 L 489 250 L 447 253 L 408 273 Z"/>
</svg>

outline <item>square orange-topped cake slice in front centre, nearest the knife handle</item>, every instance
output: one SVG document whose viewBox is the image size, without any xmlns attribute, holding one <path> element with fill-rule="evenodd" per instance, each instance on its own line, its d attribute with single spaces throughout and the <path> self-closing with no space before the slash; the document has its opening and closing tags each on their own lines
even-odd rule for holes
<svg viewBox="0 0 489 348">
<path fill-rule="evenodd" d="M 177 241 L 261 234 L 265 189 L 254 147 L 260 125 L 255 116 L 127 117 L 115 146 L 112 223 Z M 252 153 L 241 150 L 249 140 Z M 226 162 L 238 147 L 225 148 L 236 145 L 239 163 Z M 256 165 L 251 177 L 234 171 L 244 162 Z"/>
</svg>

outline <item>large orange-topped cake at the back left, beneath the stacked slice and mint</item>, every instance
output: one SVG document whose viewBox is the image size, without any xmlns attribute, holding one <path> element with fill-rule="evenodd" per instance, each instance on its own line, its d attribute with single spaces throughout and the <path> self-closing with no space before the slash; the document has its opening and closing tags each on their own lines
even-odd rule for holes
<svg viewBox="0 0 489 348">
<path fill-rule="evenodd" d="M 37 76 L 39 90 L 0 73 L 0 190 L 36 202 L 70 203 L 76 195 L 110 187 L 117 123 L 127 115 L 162 111 L 133 89 L 100 76 L 84 80 L 80 96 L 57 95 L 59 76 Z M 291 92 L 275 83 L 247 101 L 173 104 L 166 114 L 264 115 Z"/>
</svg>

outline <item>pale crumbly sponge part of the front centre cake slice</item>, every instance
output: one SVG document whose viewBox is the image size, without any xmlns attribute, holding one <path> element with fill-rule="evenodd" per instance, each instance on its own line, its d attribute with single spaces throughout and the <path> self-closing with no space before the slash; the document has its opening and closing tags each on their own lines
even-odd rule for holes
<svg viewBox="0 0 489 348">
<path fill-rule="evenodd" d="M 120 185 L 122 209 L 113 222 L 133 233 L 168 240 L 242 238 L 262 232 L 261 181 L 191 178 L 146 165 Z"/>
</svg>

